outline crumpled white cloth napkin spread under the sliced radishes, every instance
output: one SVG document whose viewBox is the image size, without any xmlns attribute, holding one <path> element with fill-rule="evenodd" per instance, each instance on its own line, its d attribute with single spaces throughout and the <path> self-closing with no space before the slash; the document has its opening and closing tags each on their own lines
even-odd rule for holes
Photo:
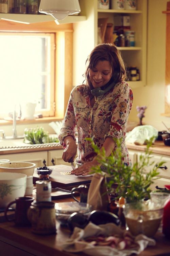
<svg viewBox="0 0 170 256">
<path fill-rule="evenodd" d="M 113 236 L 114 234 L 119 234 L 121 237 L 128 234 L 134 239 L 134 242 L 137 244 L 136 247 L 133 249 L 130 248 L 118 250 L 116 248 L 112 248 L 111 246 L 95 246 L 85 241 L 80 241 L 81 239 L 91 236 Z M 154 239 L 148 238 L 143 234 L 133 237 L 129 231 L 122 230 L 114 223 L 107 223 L 97 226 L 90 222 L 84 229 L 75 227 L 70 239 L 62 244 L 62 250 L 70 253 L 83 252 L 92 256 L 126 256 L 131 255 L 132 253 L 139 254 L 148 245 L 154 246 L 155 244 L 156 242 Z"/>
</svg>

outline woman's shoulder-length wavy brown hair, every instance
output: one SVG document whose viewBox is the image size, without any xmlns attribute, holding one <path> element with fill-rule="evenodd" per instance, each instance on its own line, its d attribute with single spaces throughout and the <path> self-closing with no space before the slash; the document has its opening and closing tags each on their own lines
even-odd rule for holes
<svg viewBox="0 0 170 256">
<path fill-rule="evenodd" d="M 89 69 L 94 69 L 99 60 L 109 61 L 112 68 L 112 81 L 116 83 L 126 80 L 126 68 L 121 53 L 114 44 L 98 44 L 89 54 L 86 60 L 86 70 L 84 73 L 87 87 L 82 88 L 82 94 L 91 94 L 93 86 L 89 77 Z"/>
</svg>

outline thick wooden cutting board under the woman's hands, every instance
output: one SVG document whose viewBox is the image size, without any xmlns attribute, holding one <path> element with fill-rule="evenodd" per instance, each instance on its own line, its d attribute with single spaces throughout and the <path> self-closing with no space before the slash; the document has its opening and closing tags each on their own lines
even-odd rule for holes
<svg viewBox="0 0 170 256">
<path fill-rule="evenodd" d="M 77 187 L 81 184 L 90 184 L 91 179 L 93 177 L 92 175 L 87 176 L 75 176 L 75 175 L 63 175 L 66 172 L 71 172 L 72 168 L 71 166 L 67 165 L 55 165 L 51 166 L 54 168 L 53 172 L 49 176 L 49 180 L 51 181 L 52 188 L 56 187 L 62 187 L 70 190 L 72 187 Z M 39 176 L 34 171 L 33 174 L 33 183 L 35 184 L 36 181 L 39 180 Z M 69 189 L 70 188 L 70 189 Z"/>
</svg>

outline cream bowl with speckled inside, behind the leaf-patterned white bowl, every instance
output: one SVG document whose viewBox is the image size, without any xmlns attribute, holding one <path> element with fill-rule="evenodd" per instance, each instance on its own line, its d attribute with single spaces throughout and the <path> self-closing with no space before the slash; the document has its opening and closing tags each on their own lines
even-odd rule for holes
<svg viewBox="0 0 170 256">
<path fill-rule="evenodd" d="M 19 172 L 27 176 L 34 173 L 35 163 L 30 162 L 7 162 L 0 163 L 0 172 Z"/>
</svg>

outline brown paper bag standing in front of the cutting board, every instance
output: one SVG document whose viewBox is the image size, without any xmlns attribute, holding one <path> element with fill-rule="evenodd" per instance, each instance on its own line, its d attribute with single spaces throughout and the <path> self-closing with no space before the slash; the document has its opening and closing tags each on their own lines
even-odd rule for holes
<svg viewBox="0 0 170 256">
<path fill-rule="evenodd" d="M 87 203 L 92 206 L 92 210 L 103 210 L 107 211 L 108 207 L 108 195 L 105 184 L 105 176 L 100 173 L 96 173 L 91 180 Z"/>
</svg>

